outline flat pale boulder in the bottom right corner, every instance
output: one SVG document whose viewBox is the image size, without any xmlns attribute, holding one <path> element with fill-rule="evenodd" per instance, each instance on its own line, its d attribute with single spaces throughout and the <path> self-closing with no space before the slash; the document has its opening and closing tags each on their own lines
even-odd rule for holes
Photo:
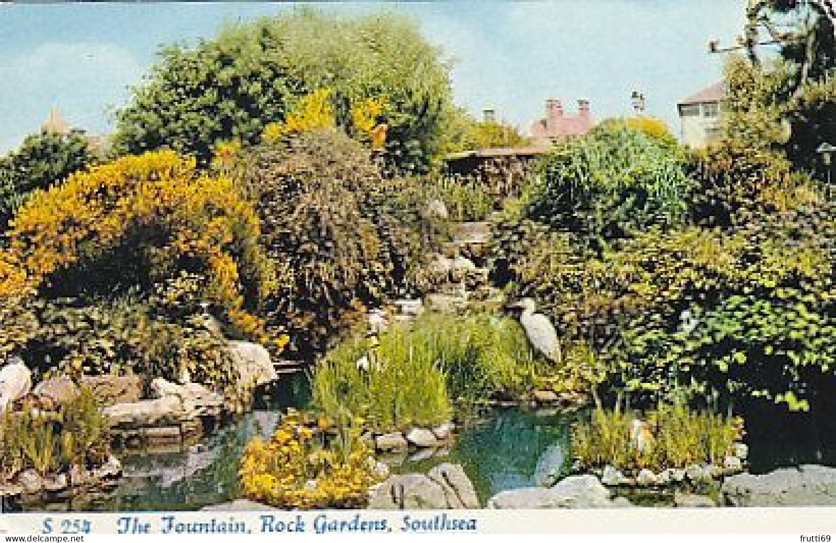
<svg viewBox="0 0 836 543">
<path fill-rule="evenodd" d="M 768 474 L 739 474 L 726 478 L 721 493 L 728 505 L 836 505 L 836 468 L 803 465 Z"/>
</svg>

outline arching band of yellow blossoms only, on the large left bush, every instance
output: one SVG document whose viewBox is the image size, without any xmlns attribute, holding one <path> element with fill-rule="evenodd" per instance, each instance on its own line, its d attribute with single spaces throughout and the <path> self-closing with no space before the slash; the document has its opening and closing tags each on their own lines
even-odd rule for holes
<svg viewBox="0 0 836 543">
<path fill-rule="evenodd" d="M 227 308 L 233 325 L 258 327 L 242 311 L 241 277 L 245 267 L 259 299 L 275 287 L 257 246 L 258 218 L 230 180 L 201 174 L 195 160 L 170 150 L 126 156 L 35 192 L 13 220 L 8 249 L 0 251 L 0 296 L 38 288 L 56 271 L 94 261 L 138 229 L 171 240 L 154 248 L 155 262 L 163 268 L 183 258 L 201 262 L 206 300 Z"/>
</svg>

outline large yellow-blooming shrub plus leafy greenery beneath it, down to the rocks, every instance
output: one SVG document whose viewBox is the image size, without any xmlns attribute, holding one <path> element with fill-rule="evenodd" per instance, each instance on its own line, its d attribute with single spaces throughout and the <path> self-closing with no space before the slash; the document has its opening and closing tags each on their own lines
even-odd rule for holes
<svg viewBox="0 0 836 543">
<path fill-rule="evenodd" d="M 36 191 L 0 250 L 0 353 L 43 373 L 183 372 L 223 388 L 227 336 L 272 344 L 257 310 L 273 292 L 260 225 L 232 181 L 165 150 L 127 156 Z"/>
</svg>

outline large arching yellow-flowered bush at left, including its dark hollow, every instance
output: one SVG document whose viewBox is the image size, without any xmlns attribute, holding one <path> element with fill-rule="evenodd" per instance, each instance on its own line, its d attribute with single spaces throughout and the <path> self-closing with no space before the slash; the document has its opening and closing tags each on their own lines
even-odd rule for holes
<svg viewBox="0 0 836 543">
<path fill-rule="evenodd" d="M 0 254 L 0 296 L 150 290 L 191 271 L 206 278 L 199 295 L 253 335 L 249 312 L 274 285 L 259 234 L 230 180 L 167 150 L 128 156 L 33 193 Z"/>
</svg>

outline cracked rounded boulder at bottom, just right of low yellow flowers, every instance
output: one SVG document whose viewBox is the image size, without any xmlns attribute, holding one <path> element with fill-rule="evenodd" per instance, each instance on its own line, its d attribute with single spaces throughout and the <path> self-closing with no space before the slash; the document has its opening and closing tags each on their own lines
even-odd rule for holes
<svg viewBox="0 0 836 543">
<path fill-rule="evenodd" d="M 441 485 L 422 474 L 392 475 L 370 489 L 369 509 L 446 509 Z"/>
</svg>

